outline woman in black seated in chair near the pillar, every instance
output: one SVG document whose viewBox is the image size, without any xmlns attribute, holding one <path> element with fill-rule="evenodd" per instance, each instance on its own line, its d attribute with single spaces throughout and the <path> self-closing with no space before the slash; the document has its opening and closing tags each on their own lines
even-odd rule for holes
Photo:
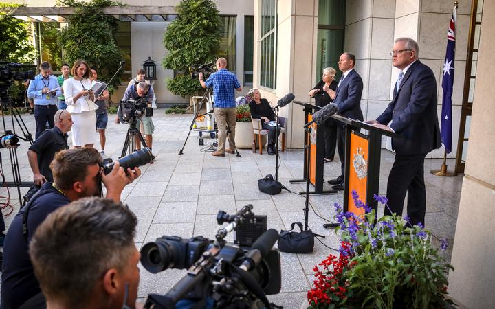
<svg viewBox="0 0 495 309">
<path fill-rule="evenodd" d="M 252 98 L 252 101 L 249 104 L 251 117 L 253 119 L 260 119 L 263 130 L 268 130 L 268 155 L 275 155 L 275 142 L 278 135 L 280 135 L 280 130 L 278 130 L 277 135 L 276 126 L 270 124 L 270 122 L 272 122 L 272 124 L 275 122 L 274 110 L 266 99 L 261 98 L 261 93 L 257 88 L 251 89 L 248 92 L 248 95 Z"/>
</svg>

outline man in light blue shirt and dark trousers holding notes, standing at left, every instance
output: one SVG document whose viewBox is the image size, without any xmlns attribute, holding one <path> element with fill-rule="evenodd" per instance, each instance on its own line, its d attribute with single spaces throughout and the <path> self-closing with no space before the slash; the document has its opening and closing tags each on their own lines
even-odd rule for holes
<svg viewBox="0 0 495 309">
<path fill-rule="evenodd" d="M 41 62 L 40 73 L 30 82 L 28 98 L 34 99 L 34 119 L 36 120 L 36 139 L 45 130 L 46 122 L 53 128 L 57 111 L 57 97 L 62 95 L 58 80 L 52 73 L 49 62 Z"/>
</svg>

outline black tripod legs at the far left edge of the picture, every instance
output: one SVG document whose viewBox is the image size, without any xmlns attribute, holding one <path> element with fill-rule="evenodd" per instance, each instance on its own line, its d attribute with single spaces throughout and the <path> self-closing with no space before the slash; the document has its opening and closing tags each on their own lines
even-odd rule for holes
<svg viewBox="0 0 495 309">
<path fill-rule="evenodd" d="M 8 107 L 10 108 L 10 119 L 12 123 L 12 131 L 7 130 L 7 126 L 5 124 L 5 108 Z M 19 139 L 22 139 L 23 141 L 28 141 L 30 144 L 32 144 L 33 139 L 31 133 L 29 133 L 28 127 L 25 125 L 24 120 L 21 117 L 21 114 L 19 113 L 19 110 L 15 105 L 12 105 L 12 100 L 10 100 L 9 95 L 8 95 L 8 90 L 5 87 L 0 88 L 0 109 L 2 113 L 2 122 L 3 122 L 3 132 L 5 135 L 10 135 L 14 134 Z M 23 133 L 24 137 L 20 137 L 16 133 L 16 124 L 21 128 L 21 131 Z M 17 159 L 17 148 L 8 148 L 9 149 L 9 156 L 10 156 L 10 165 L 12 166 L 12 176 L 14 178 L 14 181 L 8 182 L 5 181 L 3 182 L 3 185 L 5 187 L 17 187 L 17 194 L 19 195 L 19 203 L 23 205 L 22 203 L 22 198 L 21 198 L 21 187 L 31 187 L 33 184 L 32 183 L 22 183 L 21 182 L 21 172 L 19 170 L 19 160 Z M 0 163 L 1 163 L 1 157 L 0 157 Z"/>
</svg>

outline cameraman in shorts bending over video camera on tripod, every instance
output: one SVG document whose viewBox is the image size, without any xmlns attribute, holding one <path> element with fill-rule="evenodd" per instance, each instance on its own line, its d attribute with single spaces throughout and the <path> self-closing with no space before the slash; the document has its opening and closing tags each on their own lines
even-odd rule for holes
<svg viewBox="0 0 495 309">
<path fill-rule="evenodd" d="M 153 97 L 155 95 L 155 91 L 153 91 L 153 87 L 151 87 L 148 82 L 138 82 L 137 84 L 131 84 L 127 87 L 124 98 L 122 98 L 122 102 L 126 102 L 127 100 L 144 100 L 146 103 L 151 104 L 153 102 Z M 122 119 L 122 106 L 119 106 L 118 116 L 115 118 L 115 122 L 119 123 Z M 144 128 L 144 135 L 146 139 L 146 145 L 150 150 L 152 150 L 153 145 L 153 132 L 155 131 L 155 125 L 153 124 L 153 119 L 151 117 L 146 117 L 146 115 L 142 115 L 141 117 L 136 117 L 136 128 L 140 128 L 140 123 L 142 122 Z M 141 149 L 140 140 L 135 138 L 136 150 Z M 153 157 L 153 161 L 155 161 L 155 157 Z"/>
</svg>

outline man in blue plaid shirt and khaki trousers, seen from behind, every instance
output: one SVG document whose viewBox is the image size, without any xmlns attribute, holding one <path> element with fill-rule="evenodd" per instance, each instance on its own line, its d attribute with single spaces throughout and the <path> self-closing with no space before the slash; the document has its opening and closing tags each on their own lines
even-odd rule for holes
<svg viewBox="0 0 495 309">
<path fill-rule="evenodd" d="M 214 95 L 214 115 L 219 128 L 219 148 L 212 152 L 212 156 L 225 157 L 225 152 L 235 153 L 235 125 L 236 106 L 234 99 L 234 89 L 241 91 L 242 87 L 234 73 L 230 73 L 227 68 L 227 59 L 218 58 L 218 71 L 212 73 L 208 80 L 203 80 L 203 72 L 199 73 L 199 82 L 203 88 L 213 87 Z M 225 137 L 227 137 L 227 126 L 230 128 L 229 148 L 225 149 Z"/>
</svg>

